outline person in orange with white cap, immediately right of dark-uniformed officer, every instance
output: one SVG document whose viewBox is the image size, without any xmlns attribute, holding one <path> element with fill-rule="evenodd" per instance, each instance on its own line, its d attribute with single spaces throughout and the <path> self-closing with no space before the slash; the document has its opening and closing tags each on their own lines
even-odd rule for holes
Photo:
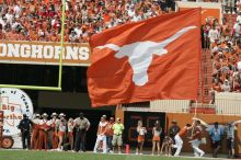
<svg viewBox="0 0 241 160">
<path fill-rule="evenodd" d="M 41 123 L 41 115 L 35 114 L 34 118 L 32 119 L 33 123 L 33 132 L 32 132 L 32 137 L 31 137 L 31 148 L 32 149 L 37 149 L 38 146 L 38 129 L 39 129 L 39 123 Z"/>
</svg>

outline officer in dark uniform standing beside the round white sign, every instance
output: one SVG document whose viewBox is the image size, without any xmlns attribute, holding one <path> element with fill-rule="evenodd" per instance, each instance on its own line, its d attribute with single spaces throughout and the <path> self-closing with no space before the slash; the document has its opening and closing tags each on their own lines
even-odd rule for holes
<svg viewBox="0 0 241 160">
<path fill-rule="evenodd" d="M 26 114 L 23 114 L 23 119 L 20 121 L 18 128 L 21 130 L 22 146 L 23 149 L 31 149 L 31 130 L 32 122 L 28 119 Z M 27 146 L 26 146 L 27 140 Z"/>
</svg>

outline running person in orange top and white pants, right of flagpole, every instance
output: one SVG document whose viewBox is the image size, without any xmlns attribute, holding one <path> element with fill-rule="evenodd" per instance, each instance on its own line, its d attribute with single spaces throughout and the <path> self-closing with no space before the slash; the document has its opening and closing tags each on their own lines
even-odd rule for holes
<svg viewBox="0 0 241 160">
<path fill-rule="evenodd" d="M 203 128 L 200 126 L 200 122 L 195 121 L 194 133 L 192 134 L 192 137 L 188 137 L 191 139 L 190 142 L 193 147 L 195 157 L 203 157 L 205 155 L 205 152 L 202 149 L 199 149 L 199 145 L 202 142 L 200 141 L 202 140 L 202 132 L 203 132 Z"/>
</svg>

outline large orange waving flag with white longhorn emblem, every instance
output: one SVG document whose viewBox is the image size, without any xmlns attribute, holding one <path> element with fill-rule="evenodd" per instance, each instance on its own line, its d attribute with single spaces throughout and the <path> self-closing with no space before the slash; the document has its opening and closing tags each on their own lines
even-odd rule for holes
<svg viewBox="0 0 241 160">
<path fill-rule="evenodd" d="M 90 46 L 92 106 L 197 99 L 200 9 L 106 30 L 93 35 Z"/>
</svg>

